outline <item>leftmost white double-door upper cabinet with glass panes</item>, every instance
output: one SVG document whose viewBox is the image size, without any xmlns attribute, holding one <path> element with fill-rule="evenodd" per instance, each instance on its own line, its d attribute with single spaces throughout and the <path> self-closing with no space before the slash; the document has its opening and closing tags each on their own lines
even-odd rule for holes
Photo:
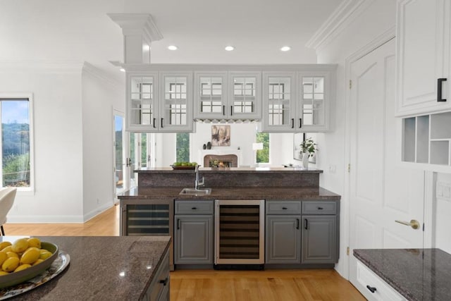
<svg viewBox="0 0 451 301">
<path fill-rule="evenodd" d="M 128 73 L 127 81 L 126 130 L 192 132 L 192 73 Z"/>
</svg>

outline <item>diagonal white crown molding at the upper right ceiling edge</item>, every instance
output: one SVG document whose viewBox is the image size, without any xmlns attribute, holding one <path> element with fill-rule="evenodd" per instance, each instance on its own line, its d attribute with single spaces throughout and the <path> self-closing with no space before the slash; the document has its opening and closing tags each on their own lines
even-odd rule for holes
<svg viewBox="0 0 451 301">
<path fill-rule="evenodd" d="M 345 0 L 319 27 L 305 46 L 317 52 L 333 41 L 342 30 L 375 0 Z"/>
</svg>

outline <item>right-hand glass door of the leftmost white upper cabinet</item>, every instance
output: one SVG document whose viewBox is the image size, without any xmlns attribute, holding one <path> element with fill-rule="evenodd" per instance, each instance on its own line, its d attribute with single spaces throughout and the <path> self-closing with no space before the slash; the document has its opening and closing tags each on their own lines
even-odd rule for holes
<svg viewBox="0 0 451 301">
<path fill-rule="evenodd" d="M 192 131 L 192 73 L 160 73 L 160 81 L 159 131 Z"/>
</svg>

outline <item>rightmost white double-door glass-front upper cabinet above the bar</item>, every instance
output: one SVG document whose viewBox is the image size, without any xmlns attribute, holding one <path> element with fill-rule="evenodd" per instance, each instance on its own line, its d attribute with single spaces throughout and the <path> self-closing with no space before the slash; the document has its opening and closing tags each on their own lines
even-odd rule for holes
<svg viewBox="0 0 451 301">
<path fill-rule="evenodd" d="M 264 72 L 264 132 L 325 132 L 335 66 L 295 72 Z"/>
</svg>

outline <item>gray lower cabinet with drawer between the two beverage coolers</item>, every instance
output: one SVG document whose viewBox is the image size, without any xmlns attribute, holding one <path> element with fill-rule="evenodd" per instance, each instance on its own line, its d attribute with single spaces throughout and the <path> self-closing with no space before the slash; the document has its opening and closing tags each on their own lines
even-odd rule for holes
<svg viewBox="0 0 451 301">
<path fill-rule="evenodd" d="M 213 223 L 213 201 L 175 201 L 174 264 L 213 264 Z"/>
</svg>

